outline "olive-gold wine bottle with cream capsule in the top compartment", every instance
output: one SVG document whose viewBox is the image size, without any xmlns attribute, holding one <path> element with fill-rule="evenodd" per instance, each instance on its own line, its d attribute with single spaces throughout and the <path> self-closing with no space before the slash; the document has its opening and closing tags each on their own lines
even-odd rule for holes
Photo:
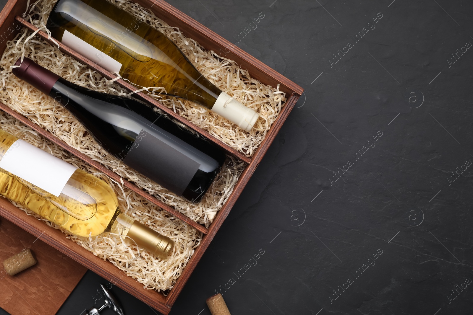
<svg viewBox="0 0 473 315">
<path fill-rule="evenodd" d="M 55 39 L 132 83 L 164 87 L 246 131 L 259 117 L 203 77 L 165 34 L 106 0 L 59 0 L 46 26 Z"/>
</svg>

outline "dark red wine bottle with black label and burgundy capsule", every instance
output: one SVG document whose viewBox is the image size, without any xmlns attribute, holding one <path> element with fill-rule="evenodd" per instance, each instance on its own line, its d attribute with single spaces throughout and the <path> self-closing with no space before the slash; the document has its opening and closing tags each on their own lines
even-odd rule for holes
<svg viewBox="0 0 473 315">
<path fill-rule="evenodd" d="M 75 85 L 30 59 L 14 75 L 49 94 L 74 115 L 117 159 L 191 202 L 199 202 L 225 154 L 136 99 Z"/>
</svg>

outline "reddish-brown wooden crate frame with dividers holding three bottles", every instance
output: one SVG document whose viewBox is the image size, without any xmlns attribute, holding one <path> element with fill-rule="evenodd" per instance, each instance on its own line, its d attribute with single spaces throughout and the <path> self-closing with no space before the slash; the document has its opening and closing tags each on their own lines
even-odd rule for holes
<svg viewBox="0 0 473 315">
<path fill-rule="evenodd" d="M 210 139 L 210 141 L 216 143 L 217 145 L 221 146 L 229 155 L 236 157 L 236 159 L 245 162 L 246 167 L 243 173 L 240 175 L 236 186 L 233 189 L 231 196 L 229 196 L 227 202 L 222 206 L 222 208 L 217 213 L 214 221 L 210 224 L 210 227 L 207 229 L 205 226 L 194 222 L 193 220 L 187 218 L 184 214 L 176 211 L 174 208 L 170 207 L 167 204 L 162 203 L 160 200 L 155 198 L 154 196 L 149 195 L 147 192 L 141 190 L 140 188 L 136 187 L 131 182 L 124 180 L 124 186 L 130 188 L 131 190 L 135 191 L 140 196 L 146 198 L 149 202 L 158 205 L 162 209 L 166 210 L 169 213 L 175 215 L 175 217 L 185 221 L 188 225 L 192 226 L 193 228 L 201 231 L 204 236 L 202 238 L 201 244 L 199 247 L 195 249 L 194 254 L 192 255 L 191 259 L 189 260 L 188 264 L 184 268 L 183 273 L 176 281 L 174 287 L 169 290 L 168 294 L 164 296 L 162 293 L 157 292 L 155 290 L 148 290 L 143 289 L 142 285 L 132 279 L 131 277 L 123 276 L 123 272 L 121 272 L 118 268 L 116 268 L 113 264 L 103 261 L 102 259 L 98 258 L 97 256 L 90 253 L 85 248 L 79 246 L 78 244 L 71 242 L 70 240 L 64 237 L 59 230 L 55 230 L 52 228 L 47 228 L 43 222 L 36 220 L 34 217 L 26 215 L 23 211 L 19 210 L 15 206 L 13 206 L 9 201 L 0 198 L 0 215 L 4 216 L 5 218 L 9 219 L 10 221 L 14 222 L 18 226 L 22 227 L 23 229 L 29 231 L 31 234 L 35 236 L 41 236 L 41 239 L 50 244 L 51 246 L 57 248 L 61 252 L 66 255 L 69 255 L 71 258 L 78 261 L 80 264 L 83 264 L 90 270 L 96 272 L 100 276 L 104 277 L 105 279 L 111 281 L 112 283 L 116 283 L 116 285 L 123 290 L 129 292 L 133 296 L 139 298 L 149 306 L 154 307 L 156 310 L 163 314 L 168 314 L 172 305 L 175 303 L 176 298 L 178 297 L 179 293 L 184 287 L 184 284 L 189 279 L 191 273 L 193 272 L 195 266 L 201 259 L 205 250 L 209 247 L 209 244 L 212 238 L 215 236 L 217 231 L 219 230 L 220 226 L 222 225 L 225 218 L 228 216 L 232 206 L 235 204 L 236 199 L 240 196 L 243 188 L 247 184 L 250 177 L 253 175 L 254 170 L 261 162 L 264 154 L 267 152 L 269 146 L 271 145 L 274 137 L 279 132 L 282 124 L 287 119 L 289 112 L 294 107 L 294 104 L 297 102 L 299 96 L 302 94 L 303 89 L 295 84 L 294 82 L 290 81 L 288 78 L 282 76 L 272 68 L 266 66 L 261 61 L 256 60 L 253 56 L 242 51 L 234 44 L 228 42 L 218 34 L 215 34 L 207 27 L 201 25 L 191 17 L 188 17 L 181 11 L 175 9 L 171 5 L 167 4 L 161 0 L 134 0 L 138 4 L 140 4 L 143 8 L 150 9 L 157 17 L 161 18 L 170 26 L 179 27 L 179 29 L 184 33 L 185 36 L 196 40 L 198 43 L 202 45 L 206 50 L 213 50 L 216 52 L 225 51 L 225 58 L 235 60 L 241 68 L 247 69 L 250 75 L 258 79 L 260 82 L 266 85 L 277 86 L 280 85 L 280 91 L 286 93 L 287 101 L 285 105 L 282 107 L 282 110 L 277 118 L 277 120 L 272 125 L 270 131 L 265 136 L 261 146 L 257 149 L 257 151 L 253 154 L 251 158 L 246 157 L 244 154 L 237 152 L 233 148 L 230 148 L 228 145 L 222 143 L 219 139 L 210 136 L 206 131 L 198 128 L 197 126 L 193 125 L 187 119 L 180 117 L 174 111 L 168 109 L 166 106 L 162 105 L 161 103 L 157 102 L 156 100 L 150 98 L 148 95 L 144 93 L 138 93 L 137 95 L 147 101 L 152 103 L 153 105 L 157 106 L 161 110 L 168 113 L 170 116 L 174 117 L 175 119 L 181 121 L 189 128 L 197 131 L 201 135 Z M 36 27 L 31 25 L 30 23 L 26 22 L 21 15 L 26 11 L 27 0 L 9 0 L 4 9 L 0 13 L 0 51 L 4 51 L 6 47 L 6 42 L 8 40 L 13 39 L 13 37 L 18 33 L 18 29 L 20 27 L 27 27 L 32 31 L 36 30 Z M 39 36 L 42 36 L 45 40 L 47 40 L 47 35 L 44 32 L 38 32 Z M 64 53 L 69 54 L 74 59 L 79 60 L 81 63 L 88 65 L 89 68 L 93 68 L 97 70 L 99 73 L 104 75 L 109 79 L 115 78 L 113 74 L 106 71 L 104 68 L 100 66 L 94 66 L 94 63 L 87 58 L 81 56 L 75 51 L 72 51 L 70 48 L 61 45 L 61 51 Z M 230 50 L 229 52 L 227 52 Z M 124 88 L 134 91 L 136 88 L 124 80 L 117 80 L 115 81 L 119 85 L 123 86 Z M 77 157 L 81 158 L 83 161 L 88 162 L 90 165 L 94 166 L 96 169 L 101 170 L 107 176 L 115 179 L 120 180 L 120 177 L 115 174 L 114 172 L 106 169 L 104 166 L 100 165 L 100 163 L 92 161 L 88 156 L 80 153 L 78 150 L 66 145 L 63 141 L 53 136 L 48 131 L 44 130 L 43 128 L 39 127 L 35 123 L 31 122 L 29 119 L 26 119 L 21 114 L 18 114 L 15 111 L 12 111 L 6 105 L 0 103 L 0 109 L 9 113 L 16 119 L 20 120 L 21 122 L 25 123 L 27 126 L 33 128 L 35 131 L 40 133 L 45 138 L 49 139 L 53 143 L 61 146 L 65 150 L 69 151 L 70 153 L 75 154 Z"/>
</svg>

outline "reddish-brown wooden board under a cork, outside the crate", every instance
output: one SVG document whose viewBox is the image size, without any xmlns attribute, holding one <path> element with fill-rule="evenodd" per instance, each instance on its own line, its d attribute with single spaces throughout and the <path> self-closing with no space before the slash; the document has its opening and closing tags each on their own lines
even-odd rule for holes
<svg viewBox="0 0 473 315">
<path fill-rule="evenodd" d="M 14 276 L 0 273 L 0 307 L 11 315 L 54 315 L 87 268 L 0 217 L 0 270 L 24 248 L 38 263 Z"/>
</svg>

